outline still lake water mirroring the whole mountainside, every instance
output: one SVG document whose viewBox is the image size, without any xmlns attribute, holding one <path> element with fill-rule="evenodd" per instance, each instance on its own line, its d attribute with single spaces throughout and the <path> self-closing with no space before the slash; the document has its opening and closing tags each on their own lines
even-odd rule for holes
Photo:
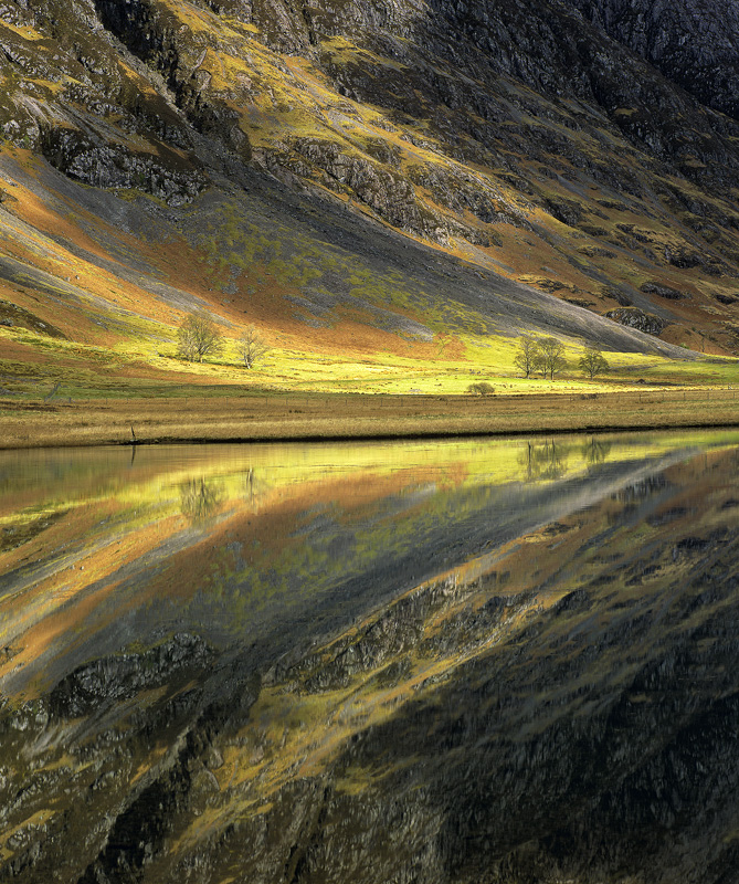
<svg viewBox="0 0 739 884">
<path fill-rule="evenodd" d="M 1 453 L 0 877 L 739 880 L 738 465 Z"/>
</svg>

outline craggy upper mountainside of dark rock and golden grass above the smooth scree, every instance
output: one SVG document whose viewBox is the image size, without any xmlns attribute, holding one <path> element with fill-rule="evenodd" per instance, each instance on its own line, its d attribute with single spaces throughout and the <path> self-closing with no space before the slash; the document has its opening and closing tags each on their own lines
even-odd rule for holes
<svg viewBox="0 0 739 884">
<path fill-rule="evenodd" d="M 179 206 L 256 169 L 598 312 L 635 260 L 698 278 L 676 322 L 730 318 L 739 123 L 671 78 L 696 0 L 2 2 L 0 130 L 75 180 Z"/>
</svg>

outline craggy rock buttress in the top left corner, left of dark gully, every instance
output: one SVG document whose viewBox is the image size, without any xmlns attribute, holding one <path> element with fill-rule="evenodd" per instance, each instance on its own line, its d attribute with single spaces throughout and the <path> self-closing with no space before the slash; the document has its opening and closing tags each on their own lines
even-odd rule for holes
<svg viewBox="0 0 739 884">
<path fill-rule="evenodd" d="M 0 110 L 7 138 L 92 187 L 135 188 L 170 204 L 203 189 L 187 123 L 120 62 L 92 2 L 15 4 L 9 15 L 49 39 L 30 52 L 19 32 L 0 29 L 11 77 L 22 77 Z"/>
</svg>

